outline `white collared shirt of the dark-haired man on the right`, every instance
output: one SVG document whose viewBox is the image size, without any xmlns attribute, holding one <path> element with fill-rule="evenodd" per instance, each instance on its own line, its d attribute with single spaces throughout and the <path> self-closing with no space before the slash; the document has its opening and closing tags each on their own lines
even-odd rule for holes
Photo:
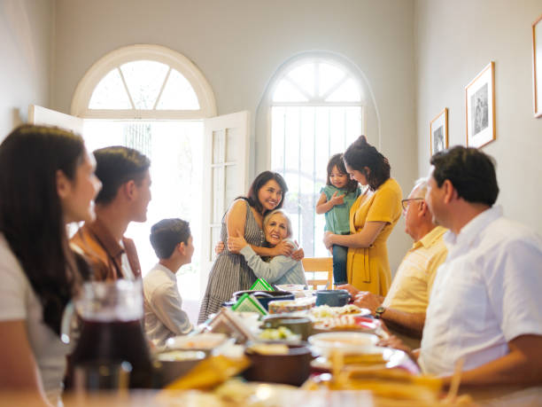
<svg viewBox="0 0 542 407">
<path fill-rule="evenodd" d="M 446 261 L 430 296 L 419 362 L 450 375 L 507 355 L 518 336 L 542 335 L 542 238 L 502 216 L 477 215 L 456 236 L 445 233 Z"/>
</svg>

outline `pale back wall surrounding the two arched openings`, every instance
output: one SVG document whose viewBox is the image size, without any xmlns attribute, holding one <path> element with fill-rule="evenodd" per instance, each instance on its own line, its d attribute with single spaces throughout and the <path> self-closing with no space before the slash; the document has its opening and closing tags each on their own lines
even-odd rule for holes
<svg viewBox="0 0 542 407">
<path fill-rule="evenodd" d="M 255 117 L 275 71 L 303 51 L 333 51 L 359 67 L 380 114 L 381 147 L 407 193 L 417 170 L 414 3 L 410 0 L 57 0 L 52 108 L 68 113 L 74 90 L 106 52 L 157 43 L 191 59 L 210 82 L 220 114 L 252 113 L 252 168 L 265 168 L 265 129 Z M 376 123 L 369 141 L 377 144 Z M 263 158 L 262 158 L 263 157 Z M 395 269 L 410 246 L 398 224 Z"/>
</svg>

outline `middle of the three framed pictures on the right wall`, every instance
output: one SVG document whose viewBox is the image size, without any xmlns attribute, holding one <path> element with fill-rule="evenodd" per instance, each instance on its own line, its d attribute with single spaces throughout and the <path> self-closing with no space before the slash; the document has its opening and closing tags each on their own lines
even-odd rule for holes
<svg viewBox="0 0 542 407">
<path fill-rule="evenodd" d="M 495 63 L 490 62 L 465 87 L 467 146 L 480 148 L 495 139 Z"/>
</svg>

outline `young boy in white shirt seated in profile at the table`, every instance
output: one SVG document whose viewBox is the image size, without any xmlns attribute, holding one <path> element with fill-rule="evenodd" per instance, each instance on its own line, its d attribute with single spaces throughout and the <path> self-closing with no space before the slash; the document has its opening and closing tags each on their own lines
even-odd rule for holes
<svg viewBox="0 0 542 407">
<path fill-rule="evenodd" d="M 192 325 L 182 310 L 176 272 L 194 253 L 188 222 L 164 219 L 151 228 L 151 245 L 159 262 L 143 278 L 145 333 L 156 346 L 176 335 L 190 333 Z"/>
</svg>

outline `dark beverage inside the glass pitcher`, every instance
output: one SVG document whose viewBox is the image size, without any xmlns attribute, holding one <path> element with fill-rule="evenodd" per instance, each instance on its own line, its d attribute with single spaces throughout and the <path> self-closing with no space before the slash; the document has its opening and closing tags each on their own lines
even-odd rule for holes
<svg viewBox="0 0 542 407">
<path fill-rule="evenodd" d="M 97 361 L 129 362 L 132 365 L 129 387 L 151 387 L 151 356 L 140 320 L 83 320 L 72 363 L 77 366 Z"/>
</svg>

